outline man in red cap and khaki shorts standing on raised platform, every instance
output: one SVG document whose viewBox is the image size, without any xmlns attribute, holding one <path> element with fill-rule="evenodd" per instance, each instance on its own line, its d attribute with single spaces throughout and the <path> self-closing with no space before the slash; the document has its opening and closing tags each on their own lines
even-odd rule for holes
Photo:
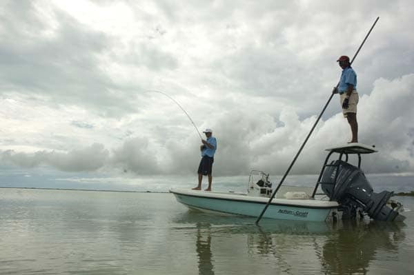
<svg viewBox="0 0 414 275">
<path fill-rule="evenodd" d="M 342 68 L 341 79 L 338 87 L 333 89 L 333 93 L 341 96 L 342 113 L 351 126 L 352 139 L 348 143 L 358 142 L 358 123 L 357 123 L 357 104 L 359 96 L 357 93 L 357 74 L 351 68 L 349 57 L 343 55 L 337 60 L 339 67 Z"/>
</svg>

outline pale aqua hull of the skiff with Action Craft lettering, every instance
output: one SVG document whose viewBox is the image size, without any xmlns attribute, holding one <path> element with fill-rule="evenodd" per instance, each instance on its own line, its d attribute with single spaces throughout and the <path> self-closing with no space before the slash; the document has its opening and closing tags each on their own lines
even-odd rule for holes
<svg viewBox="0 0 414 275">
<path fill-rule="evenodd" d="M 266 197 L 230 192 L 177 189 L 171 189 L 170 192 L 175 194 L 179 203 L 190 208 L 255 217 L 259 216 L 269 200 Z M 274 198 L 263 217 L 295 221 L 325 221 L 331 212 L 337 211 L 337 207 L 335 201 Z"/>
</svg>

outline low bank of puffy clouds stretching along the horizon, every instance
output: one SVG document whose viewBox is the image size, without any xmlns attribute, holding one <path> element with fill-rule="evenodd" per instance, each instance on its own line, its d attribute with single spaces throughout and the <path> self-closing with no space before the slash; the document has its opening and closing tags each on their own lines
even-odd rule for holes
<svg viewBox="0 0 414 275">
<path fill-rule="evenodd" d="M 371 173 L 410 172 L 414 168 L 414 124 L 411 119 L 414 117 L 411 108 L 414 74 L 393 81 L 379 79 L 374 85 L 373 92 L 359 101 L 359 139 L 368 145 L 375 144 L 380 153 L 364 156 L 364 170 Z M 339 109 L 337 101 L 334 97 L 332 108 Z M 293 108 L 282 110 L 277 119 L 266 112 L 236 109 L 213 115 L 210 119 L 209 127 L 213 128 L 218 141 L 214 166 L 217 175 L 246 174 L 250 169 L 283 174 L 316 121 L 316 116 L 299 119 Z M 43 163 L 64 171 L 105 167 L 135 174 L 195 173 L 199 151 L 194 129 L 189 127 L 178 136 L 177 131 L 170 132 L 164 132 L 164 139 L 159 140 L 145 136 L 128 138 L 111 153 L 103 145 L 94 144 L 66 154 L 4 151 L 1 161 L 25 167 Z M 350 135 L 348 123 L 340 113 L 320 121 L 292 172 L 316 174 L 324 161 L 323 150 L 346 143 Z"/>
</svg>

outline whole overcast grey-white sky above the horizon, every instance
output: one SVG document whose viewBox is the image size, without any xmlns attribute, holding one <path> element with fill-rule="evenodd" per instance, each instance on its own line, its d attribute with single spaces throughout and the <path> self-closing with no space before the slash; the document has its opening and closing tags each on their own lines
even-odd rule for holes
<svg viewBox="0 0 414 275">
<path fill-rule="evenodd" d="M 0 165 L 195 174 L 200 132 L 214 174 L 283 174 L 341 69 L 355 62 L 359 141 L 371 173 L 414 171 L 412 1 L 0 2 Z M 316 174 L 351 131 L 338 96 L 293 168 Z"/>
</svg>

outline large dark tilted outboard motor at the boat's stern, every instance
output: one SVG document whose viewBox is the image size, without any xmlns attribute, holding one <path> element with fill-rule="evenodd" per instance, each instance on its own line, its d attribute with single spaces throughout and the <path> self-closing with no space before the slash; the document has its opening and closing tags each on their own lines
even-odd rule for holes
<svg viewBox="0 0 414 275">
<path fill-rule="evenodd" d="M 373 192 L 373 187 L 364 172 L 345 161 L 333 161 L 326 165 L 322 174 L 322 190 L 331 199 L 341 205 L 343 218 L 355 218 L 360 208 L 377 221 L 394 221 L 398 216 L 400 203 L 387 202 L 393 192 Z"/>
</svg>

